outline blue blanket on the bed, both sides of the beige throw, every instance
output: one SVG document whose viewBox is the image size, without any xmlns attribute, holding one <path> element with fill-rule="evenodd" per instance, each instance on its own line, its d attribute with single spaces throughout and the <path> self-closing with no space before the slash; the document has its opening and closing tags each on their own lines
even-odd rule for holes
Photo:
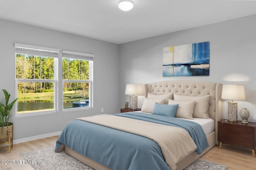
<svg viewBox="0 0 256 170">
<path fill-rule="evenodd" d="M 133 112 L 115 115 L 170 125 L 170 117 L 160 115 Z M 173 121 L 176 127 L 185 126 L 185 130 L 200 143 L 201 135 L 196 134 L 196 127 L 187 125 L 197 123 L 175 118 Z M 206 137 L 202 139 L 207 141 Z M 170 170 L 159 145 L 151 139 L 86 121 L 68 123 L 56 141 L 55 150 L 62 144 L 113 170 Z M 204 143 L 199 146 L 198 153 L 205 147 Z"/>
</svg>

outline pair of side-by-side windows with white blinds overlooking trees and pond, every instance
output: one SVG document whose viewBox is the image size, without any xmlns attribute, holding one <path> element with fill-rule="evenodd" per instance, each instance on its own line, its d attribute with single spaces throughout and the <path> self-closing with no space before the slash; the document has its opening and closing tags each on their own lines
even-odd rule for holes
<svg viewBox="0 0 256 170">
<path fill-rule="evenodd" d="M 59 49 L 14 45 L 16 116 L 56 113 L 57 101 L 62 101 L 64 111 L 92 108 L 93 54 L 63 50 L 58 67 Z"/>
</svg>

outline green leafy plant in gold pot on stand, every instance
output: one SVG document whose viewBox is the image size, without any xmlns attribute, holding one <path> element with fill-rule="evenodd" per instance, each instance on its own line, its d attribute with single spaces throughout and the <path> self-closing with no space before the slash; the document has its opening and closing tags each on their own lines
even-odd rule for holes
<svg viewBox="0 0 256 170">
<path fill-rule="evenodd" d="M 0 144 L 6 143 L 8 141 L 9 135 L 8 131 L 11 130 L 11 141 L 13 136 L 13 123 L 9 122 L 10 112 L 12 107 L 14 106 L 15 102 L 18 98 L 12 101 L 10 104 L 9 98 L 10 94 L 6 90 L 3 89 L 4 96 L 5 96 L 5 104 L 0 103 Z M 9 141 L 10 143 L 10 141 Z M 10 146 L 9 146 L 10 147 Z"/>
</svg>

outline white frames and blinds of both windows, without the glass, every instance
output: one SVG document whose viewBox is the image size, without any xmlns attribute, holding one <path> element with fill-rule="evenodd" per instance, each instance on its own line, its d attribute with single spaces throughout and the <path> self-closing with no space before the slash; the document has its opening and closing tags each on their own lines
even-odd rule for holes
<svg viewBox="0 0 256 170">
<path fill-rule="evenodd" d="M 14 43 L 15 47 L 15 63 L 16 63 L 16 54 L 23 54 L 23 55 L 34 55 L 40 57 L 52 57 L 54 58 L 54 79 L 18 79 L 15 76 L 15 96 L 18 97 L 18 82 L 52 82 L 54 83 L 54 109 L 50 111 L 36 111 L 36 112 L 29 112 L 29 113 L 19 113 L 18 114 L 18 102 L 16 102 L 15 107 L 15 116 L 16 117 L 27 117 L 27 116 L 35 116 L 35 115 L 45 115 L 45 114 L 52 114 L 58 113 L 60 107 L 62 107 L 62 112 L 66 111 L 74 111 L 74 110 L 86 110 L 86 109 L 93 109 L 93 58 L 94 54 L 91 53 L 80 53 L 74 51 L 67 51 L 62 50 L 60 53 L 60 49 L 50 48 L 50 47 L 41 47 L 36 45 L 27 45 L 27 44 L 20 44 Z M 23 52 L 23 49 L 27 49 L 31 52 L 29 53 L 20 53 Z M 19 51 L 17 53 L 17 50 Z M 26 51 L 26 50 L 24 50 Z M 44 51 L 47 55 L 44 54 Z M 38 53 L 39 55 L 37 55 Z M 57 54 L 56 54 L 57 53 Z M 63 57 L 64 54 L 68 54 L 72 57 Z M 53 56 L 52 56 L 53 55 Z M 60 61 L 61 58 L 61 61 Z M 89 80 L 63 80 L 62 76 L 60 76 L 60 71 L 62 72 L 62 59 L 63 58 L 72 58 L 72 59 L 80 59 L 89 61 Z M 16 68 L 16 65 L 15 65 Z M 72 107 L 66 108 L 63 107 L 63 83 L 64 82 L 86 82 L 89 84 L 89 106 L 86 107 Z M 62 84 L 62 85 L 60 85 Z M 62 100 L 62 104 L 58 104 L 58 101 Z M 60 106 L 61 105 L 61 106 Z"/>
</svg>

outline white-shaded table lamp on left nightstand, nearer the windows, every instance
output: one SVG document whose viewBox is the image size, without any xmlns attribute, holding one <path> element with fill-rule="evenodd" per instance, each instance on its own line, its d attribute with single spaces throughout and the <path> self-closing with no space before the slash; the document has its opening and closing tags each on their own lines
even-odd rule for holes
<svg viewBox="0 0 256 170">
<path fill-rule="evenodd" d="M 125 94 L 130 94 L 130 109 L 137 109 L 138 96 L 142 95 L 142 85 L 141 84 L 126 84 Z"/>
</svg>

